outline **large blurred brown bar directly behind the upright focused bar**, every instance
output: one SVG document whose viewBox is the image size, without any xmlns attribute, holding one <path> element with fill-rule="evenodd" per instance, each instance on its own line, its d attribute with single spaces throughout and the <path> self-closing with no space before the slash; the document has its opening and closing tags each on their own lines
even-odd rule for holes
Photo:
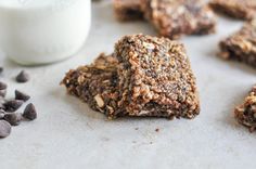
<svg viewBox="0 0 256 169">
<path fill-rule="evenodd" d="M 215 15 L 202 0 L 143 0 L 142 10 L 164 37 L 177 39 L 215 31 Z"/>
</svg>

